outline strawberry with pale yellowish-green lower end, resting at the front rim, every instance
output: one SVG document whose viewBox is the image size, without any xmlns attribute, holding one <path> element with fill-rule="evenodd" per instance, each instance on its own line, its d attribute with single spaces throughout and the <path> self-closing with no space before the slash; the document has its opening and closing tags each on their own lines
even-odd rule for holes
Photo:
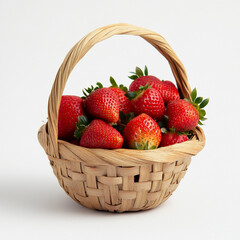
<svg viewBox="0 0 240 240">
<path fill-rule="evenodd" d="M 154 149 L 160 144 L 161 130 L 150 116 L 142 113 L 126 125 L 123 137 L 129 148 Z"/>
</svg>

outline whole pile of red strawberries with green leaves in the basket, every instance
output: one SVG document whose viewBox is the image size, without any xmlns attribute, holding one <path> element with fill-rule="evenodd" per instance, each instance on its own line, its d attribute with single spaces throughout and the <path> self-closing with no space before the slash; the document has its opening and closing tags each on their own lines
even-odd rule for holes
<svg viewBox="0 0 240 240">
<path fill-rule="evenodd" d="M 176 86 L 161 81 L 136 67 L 127 87 L 101 83 L 83 91 L 84 97 L 62 96 L 58 137 L 89 148 L 155 149 L 191 139 L 192 130 L 202 125 L 209 99 L 180 99 Z"/>
</svg>

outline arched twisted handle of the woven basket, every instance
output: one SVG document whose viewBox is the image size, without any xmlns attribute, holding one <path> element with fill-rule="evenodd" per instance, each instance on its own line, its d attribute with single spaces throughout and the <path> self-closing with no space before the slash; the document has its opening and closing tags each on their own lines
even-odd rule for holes
<svg viewBox="0 0 240 240">
<path fill-rule="evenodd" d="M 98 42 L 111 36 L 126 34 L 139 36 L 155 47 L 169 62 L 181 97 L 188 98 L 191 93 L 187 74 L 181 61 L 166 40 L 153 31 L 130 24 L 119 23 L 98 28 L 82 38 L 67 54 L 60 66 L 48 100 L 48 154 L 59 157 L 58 153 L 58 110 L 67 79 L 75 65 Z"/>
</svg>

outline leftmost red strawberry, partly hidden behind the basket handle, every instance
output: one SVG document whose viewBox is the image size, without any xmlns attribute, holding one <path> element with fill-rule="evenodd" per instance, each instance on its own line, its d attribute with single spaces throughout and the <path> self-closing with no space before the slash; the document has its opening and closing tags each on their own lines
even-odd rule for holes
<svg viewBox="0 0 240 240">
<path fill-rule="evenodd" d="M 58 138 L 71 140 L 76 130 L 78 117 L 84 115 L 84 100 L 77 96 L 62 96 L 58 113 Z"/>
</svg>

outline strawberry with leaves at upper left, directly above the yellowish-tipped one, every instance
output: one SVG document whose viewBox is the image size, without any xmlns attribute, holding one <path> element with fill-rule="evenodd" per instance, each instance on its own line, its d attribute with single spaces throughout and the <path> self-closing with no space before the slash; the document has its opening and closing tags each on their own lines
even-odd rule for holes
<svg viewBox="0 0 240 240">
<path fill-rule="evenodd" d="M 165 112 L 165 105 L 161 94 L 151 86 L 139 87 L 137 92 L 128 92 L 126 96 L 132 99 L 132 111 L 135 115 L 146 113 L 150 117 L 159 120 Z"/>
</svg>

